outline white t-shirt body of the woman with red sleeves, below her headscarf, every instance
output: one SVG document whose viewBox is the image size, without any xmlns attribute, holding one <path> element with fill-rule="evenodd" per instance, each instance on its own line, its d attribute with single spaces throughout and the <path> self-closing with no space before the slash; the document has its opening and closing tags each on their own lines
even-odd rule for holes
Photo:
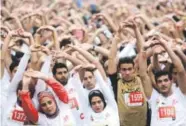
<svg viewBox="0 0 186 126">
<path fill-rule="evenodd" d="M 47 118 L 46 115 L 39 113 L 38 124 L 41 126 L 76 126 L 75 120 L 69 108 L 61 105 L 60 112 L 55 118 Z"/>
</svg>

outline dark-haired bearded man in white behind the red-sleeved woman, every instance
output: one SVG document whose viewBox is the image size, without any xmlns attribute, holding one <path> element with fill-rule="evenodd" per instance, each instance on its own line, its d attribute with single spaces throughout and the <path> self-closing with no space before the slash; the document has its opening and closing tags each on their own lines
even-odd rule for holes
<svg viewBox="0 0 186 126">
<path fill-rule="evenodd" d="M 74 88 L 74 84 L 79 80 L 79 76 L 75 76 L 70 74 L 68 68 L 63 63 L 55 63 L 53 69 L 54 78 L 59 81 L 68 92 L 69 96 L 69 105 L 71 107 L 72 113 L 76 119 L 76 124 L 78 126 L 84 125 L 84 115 L 82 113 L 82 105 L 80 102 L 80 98 L 77 94 L 76 89 Z"/>
</svg>

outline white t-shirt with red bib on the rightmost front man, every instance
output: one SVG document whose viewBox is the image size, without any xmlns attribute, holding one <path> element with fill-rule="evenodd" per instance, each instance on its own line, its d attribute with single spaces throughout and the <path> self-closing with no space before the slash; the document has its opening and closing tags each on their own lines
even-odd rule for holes
<svg viewBox="0 0 186 126">
<path fill-rule="evenodd" d="M 169 97 L 153 90 L 148 102 L 152 109 L 151 126 L 186 126 L 186 96 L 179 88 Z"/>
</svg>

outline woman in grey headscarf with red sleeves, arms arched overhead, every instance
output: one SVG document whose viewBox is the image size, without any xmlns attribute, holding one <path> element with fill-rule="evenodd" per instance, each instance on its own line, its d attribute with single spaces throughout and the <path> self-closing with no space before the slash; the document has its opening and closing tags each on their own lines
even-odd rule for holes
<svg viewBox="0 0 186 126">
<path fill-rule="evenodd" d="M 50 88 L 38 94 L 39 111 L 35 109 L 30 98 L 28 86 L 32 78 L 45 81 Z M 54 94 L 55 92 L 55 94 Z M 53 78 L 38 71 L 29 71 L 23 78 L 23 89 L 20 91 L 23 110 L 29 120 L 42 126 L 75 126 L 68 103 L 68 94 L 63 85 Z M 59 98 L 59 99 L 58 99 Z M 60 101 L 62 102 L 60 102 Z"/>
</svg>

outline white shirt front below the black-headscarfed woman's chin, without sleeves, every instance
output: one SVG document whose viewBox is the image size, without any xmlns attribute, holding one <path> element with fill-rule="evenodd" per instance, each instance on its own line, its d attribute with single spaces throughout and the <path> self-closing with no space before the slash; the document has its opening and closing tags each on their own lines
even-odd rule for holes
<svg viewBox="0 0 186 126">
<path fill-rule="evenodd" d="M 92 109 L 89 111 L 90 126 L 119 126 L 116 112 L 110 106 L 106 106 L 101 113 L 95 113 Z"/>
</svg>

